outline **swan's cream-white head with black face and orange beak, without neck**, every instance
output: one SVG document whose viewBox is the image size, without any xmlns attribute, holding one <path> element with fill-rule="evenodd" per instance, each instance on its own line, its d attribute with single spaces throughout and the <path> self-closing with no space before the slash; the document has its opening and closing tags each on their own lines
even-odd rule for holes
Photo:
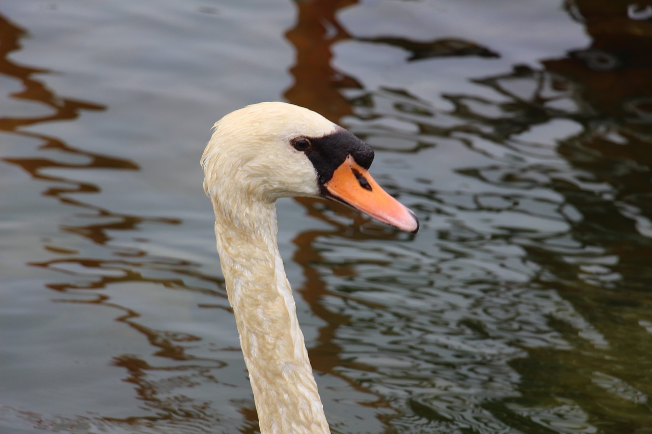
<svg viewBox="0 0 652 434">
<path fill-rule="evenodd" d="M 374 151 L 312 110 L 261 102 L 217 121 L 201 158 L 204 190 L 231 210 L 280 197 L 325 197 L 416 233 L 415 214 L 368 172 Z"/>
</svg>

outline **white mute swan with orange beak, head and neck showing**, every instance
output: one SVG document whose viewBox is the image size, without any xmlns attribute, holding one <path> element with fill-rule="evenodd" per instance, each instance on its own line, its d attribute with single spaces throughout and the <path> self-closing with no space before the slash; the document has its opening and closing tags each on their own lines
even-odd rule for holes
<svg viewBox="0 0 652 434">
<path fill-rule="evenodd" d="M 419 221 L 369 175 L 369 145 L 314 111 L 262 102 L 214 129 L 203 186 L 261 433 L 329 433 L 276 245 L 274 203 L 325 197 L 411 233 Z"/>
</svg>

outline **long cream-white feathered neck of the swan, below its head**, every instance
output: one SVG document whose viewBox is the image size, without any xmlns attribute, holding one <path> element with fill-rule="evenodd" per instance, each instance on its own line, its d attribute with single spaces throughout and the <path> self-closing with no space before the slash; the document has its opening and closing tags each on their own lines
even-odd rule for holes
<svg viewBox="0 0 652 434">
<path fill-rule="evenodd" d="M 261 433 L 330 433 L 276 244 L 274 203 L 248 203 L 239 211 L 213 206 Z"/>
</svg>

